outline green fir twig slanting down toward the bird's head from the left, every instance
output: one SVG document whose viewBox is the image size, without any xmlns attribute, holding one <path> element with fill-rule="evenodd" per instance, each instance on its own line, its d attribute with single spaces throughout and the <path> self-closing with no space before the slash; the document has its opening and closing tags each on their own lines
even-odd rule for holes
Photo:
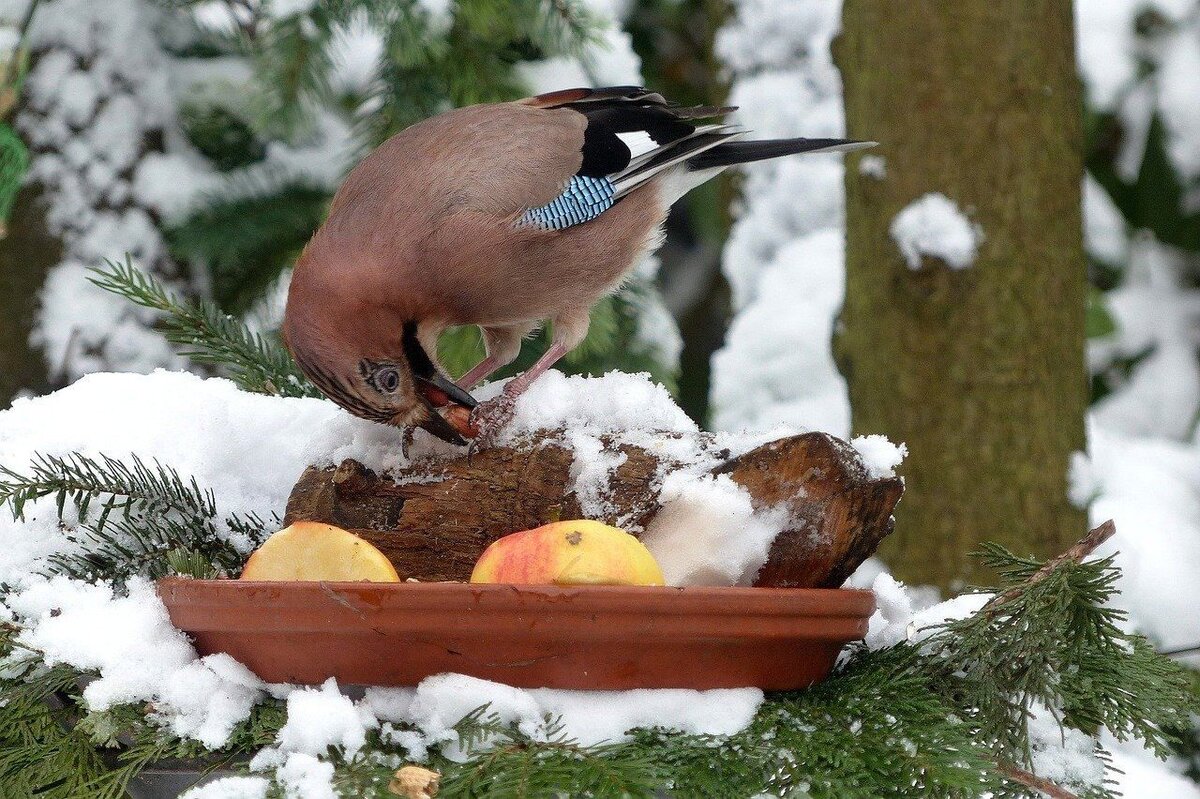
<svg viewBox="0 0 1200 799">
<path fill-rule="evenodd" d="M 185 348 L 184 356 L 221 367 L 246 391 L 284 397 L 322 396 L 287 350 L 271 338 L 251 332 L 211 302 L 179 300 L 156 278 L 134 269 L 128 256 L 124 264 L 106 263 L 107 270 L 92 270 L 91 282 L 162 313 L 167 341 Z"/>
</svg>

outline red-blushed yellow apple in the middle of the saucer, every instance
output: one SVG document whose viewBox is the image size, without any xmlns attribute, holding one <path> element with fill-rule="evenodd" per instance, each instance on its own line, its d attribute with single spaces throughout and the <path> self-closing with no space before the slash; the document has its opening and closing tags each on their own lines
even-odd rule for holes
<svg viewBox="0 0 1200 799">
<path fill-rule="evenodd" d="M 475 564 L 473 583 L 661 585 L 662 571 L 629 533 L 587 519 L 505 535 Z"/>
</svg>

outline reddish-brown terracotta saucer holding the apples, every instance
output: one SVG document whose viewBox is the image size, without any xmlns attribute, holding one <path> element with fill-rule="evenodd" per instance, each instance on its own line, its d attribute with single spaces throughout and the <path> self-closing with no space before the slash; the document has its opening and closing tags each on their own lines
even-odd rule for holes
<svg viewBox="0 0 1200 799">
<path fill-rule="evenodd" d="M 173 577 L 172 623 L 270 683 L 798 689 L 863 637 L 870 591 L 808 588 L 282 583 Z"/>
</svg>

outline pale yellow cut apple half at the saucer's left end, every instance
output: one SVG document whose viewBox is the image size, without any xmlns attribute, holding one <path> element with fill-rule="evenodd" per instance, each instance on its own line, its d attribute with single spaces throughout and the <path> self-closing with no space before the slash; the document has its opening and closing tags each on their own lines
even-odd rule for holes
<svg viewBox="0 0 1200 799">
<path fill-rule="evenodd" d="M 266 539 L 242 579 L 398 583 L 391 561 L 371 542 L 332 524 L 296 522 Z"/>
</svg>

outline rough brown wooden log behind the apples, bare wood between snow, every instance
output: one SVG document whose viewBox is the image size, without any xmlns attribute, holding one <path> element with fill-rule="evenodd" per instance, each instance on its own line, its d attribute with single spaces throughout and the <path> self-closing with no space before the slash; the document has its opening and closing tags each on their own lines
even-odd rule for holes
<svg viewBox="0 0 1200 799">
<path fill-rule="evenodd" d="M 635 535 L 659 510 L 662 463 L 620 445 L 607 499 L 610 524 Z M 564 518 L 581 518 L 574 456 L 558 433 L 520 449 L 414 464 L 380 476 L 356 461 L 310 467 L 292 491 L 284 522 L 328 522 L 377 546 L 402 578 L 466 581 L 496 539 Z M 772 441 L 727 459 L 714 474 L 744 486 L 758 507 L 785 507 L 791 523 L 775 540 L 756 585 L 835 587 L 892 531 L 899 477 L 871 479 L 852 446 L 824 433 Z"/>
</svg>

